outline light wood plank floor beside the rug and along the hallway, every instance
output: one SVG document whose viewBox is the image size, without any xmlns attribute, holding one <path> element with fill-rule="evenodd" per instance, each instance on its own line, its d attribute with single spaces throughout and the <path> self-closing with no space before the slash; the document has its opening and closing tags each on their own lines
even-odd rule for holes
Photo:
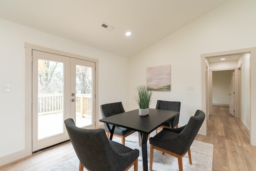
<svg viewBox="0 0 256 171">
<path fill-rule="evenodd" d="M 214 145 L 212 171 L 256 171 L 256 147 L 250 145 L 240 119 L 228 114 L 228 107 L 213 106 L 207 136 L 198 135 L 196 140 Z M 71 143 L 66 142 L 0 166 L 0 171 L 46 171 L 74 156 Z"/>
</svg>

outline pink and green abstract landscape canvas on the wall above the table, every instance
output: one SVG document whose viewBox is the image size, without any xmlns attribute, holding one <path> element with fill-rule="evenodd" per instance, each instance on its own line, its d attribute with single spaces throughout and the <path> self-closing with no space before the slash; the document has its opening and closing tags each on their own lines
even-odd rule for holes
<svg viewBox="0 0 256 171">
<path fill-rule="evenodd" d="M 152 91 L 170 91 L 171 66 L 148 67 L 147 86 Z"/>
</svg>

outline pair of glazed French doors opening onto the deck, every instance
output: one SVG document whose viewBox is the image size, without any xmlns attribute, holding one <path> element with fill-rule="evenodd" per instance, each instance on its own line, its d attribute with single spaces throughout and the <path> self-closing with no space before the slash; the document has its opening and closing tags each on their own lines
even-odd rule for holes
<svg viewBox="0 0 256 171">
<path fill-rule="evenodd" d="M 64 120 L 95 129 L 95 63 L 32 50 L 32 151 L 68 140 Z"/>
</svg>

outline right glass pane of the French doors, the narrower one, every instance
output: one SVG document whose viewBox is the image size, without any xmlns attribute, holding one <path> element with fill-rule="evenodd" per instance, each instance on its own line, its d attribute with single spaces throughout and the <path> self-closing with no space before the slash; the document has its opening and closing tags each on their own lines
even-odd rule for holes
<svg viewBox="0 0 256 171">
<path fill-rule="evenodd" d="M 76 126 L 92 125 L 92 68 L 76 65 Z"/>
</svg>

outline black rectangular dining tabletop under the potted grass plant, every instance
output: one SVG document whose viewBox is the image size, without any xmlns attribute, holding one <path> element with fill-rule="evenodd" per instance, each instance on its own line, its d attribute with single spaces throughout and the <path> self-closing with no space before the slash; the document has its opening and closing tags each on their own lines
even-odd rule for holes
<svg viewBox="0 0 256 171">
<path fill-rule="evenodd" d="M 144 134 L 150 134 L 162 123 L 173 118 L 180 112 L 160 109 L 149 109 L 149 114 L 146 116 L 140 116 L 139 110 L 131 110 L 114 116 L 100 119 L 100 122 L 112 124 L 142 132 Z"/>
</svg>

